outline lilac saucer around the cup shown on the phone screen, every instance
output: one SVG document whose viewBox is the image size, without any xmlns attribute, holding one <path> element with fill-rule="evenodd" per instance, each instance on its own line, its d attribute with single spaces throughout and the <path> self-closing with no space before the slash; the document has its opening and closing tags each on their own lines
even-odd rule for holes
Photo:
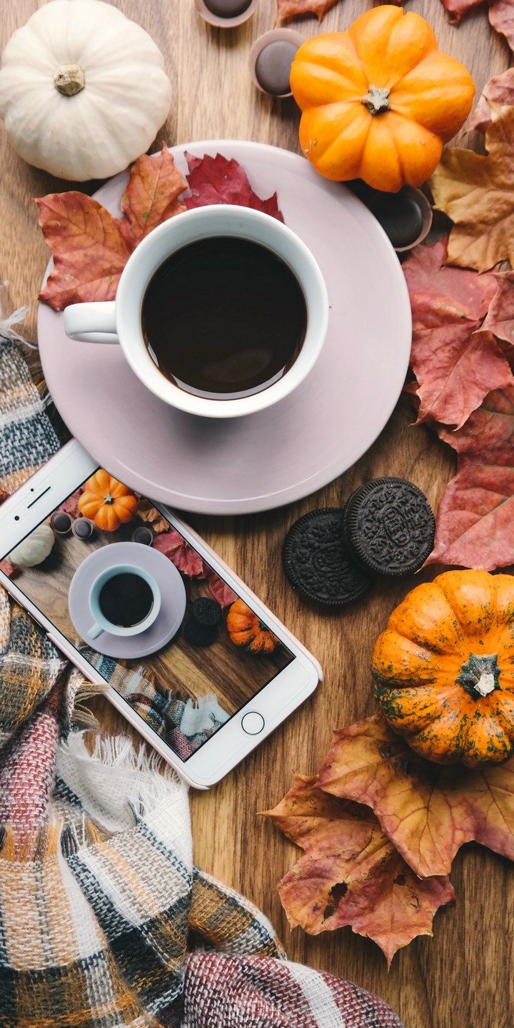
<svg viewBox="0 0 514 1028">
<path fill-rule="evenodd" d="M 102 632 L 96 639 L 89 639 L 87 632 L 95 620 L 89 610 L 89 589 L 102 572 L 120 563 L 136 564 L 153 575 L 161 596 L 158 616 L 139 635 Z M 186 610 L 186 590 L 180 572 L 163 553 L 142 543 L 111 543 L 95 550 L 77 568 L 68 592 L 68 608 L 78 635 L 87 646 L 106 657 L 133 660 L 156 653 L 177 634 Z"/>
</svg>

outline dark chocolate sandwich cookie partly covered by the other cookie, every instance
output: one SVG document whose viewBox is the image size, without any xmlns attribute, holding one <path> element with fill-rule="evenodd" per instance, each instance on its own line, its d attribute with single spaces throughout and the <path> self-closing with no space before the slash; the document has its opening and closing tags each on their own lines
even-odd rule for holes
<svg viewBox="0 0 514 1028">
<path fill-rule="evenodd" d="M 295 521 L 282 556 L 293 588 L 315 602 L 345 607 L 371 588 L 372 577 L 359 567 L 344 545 L 340 507 L 309 511 Z"/>
</svg>

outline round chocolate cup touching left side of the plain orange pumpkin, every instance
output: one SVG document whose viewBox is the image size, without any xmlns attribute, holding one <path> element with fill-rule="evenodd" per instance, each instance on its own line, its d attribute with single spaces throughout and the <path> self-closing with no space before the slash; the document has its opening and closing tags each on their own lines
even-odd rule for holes
<svg viewBox="0 0 514 1028">
<path fill-rule="evenodd" d="M 294 29 L 270 29 L 255 40 L 250 50 L 249 66 L 254 84 L 261 93 L 278 100 L 292 97 L 289 71 L 296 50 L 304 42 L 304 36 Z M 288 50 L 291 57 L 289 67 Z M 282 88 L 286 80 L 287 87 Z"/>
</svg>

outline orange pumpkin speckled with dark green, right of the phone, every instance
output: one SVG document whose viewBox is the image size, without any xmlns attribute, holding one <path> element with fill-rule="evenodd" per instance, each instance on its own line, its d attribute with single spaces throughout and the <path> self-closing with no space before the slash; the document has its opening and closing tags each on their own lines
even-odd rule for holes
<svg viewBox="0 0 514 1028">
<path fill-rule="evenodd" d="M 514 578 L 446 572 L 416 586 L 373 651 L 380 710 L 437 764 L 514 751 Z"/>
</svg>

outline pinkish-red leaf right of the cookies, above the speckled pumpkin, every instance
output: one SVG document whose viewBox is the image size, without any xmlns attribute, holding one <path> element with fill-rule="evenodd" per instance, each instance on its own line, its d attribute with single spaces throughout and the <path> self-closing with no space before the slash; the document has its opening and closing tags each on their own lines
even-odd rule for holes
<svg viewBox="0 0 514 1028">
<path fill-rule="evenodd" d="M 473 460 L 449 482 L 427 563 L 493 571 L 514 563 L 514 461 L 510 444 Z"/>
</svg>

